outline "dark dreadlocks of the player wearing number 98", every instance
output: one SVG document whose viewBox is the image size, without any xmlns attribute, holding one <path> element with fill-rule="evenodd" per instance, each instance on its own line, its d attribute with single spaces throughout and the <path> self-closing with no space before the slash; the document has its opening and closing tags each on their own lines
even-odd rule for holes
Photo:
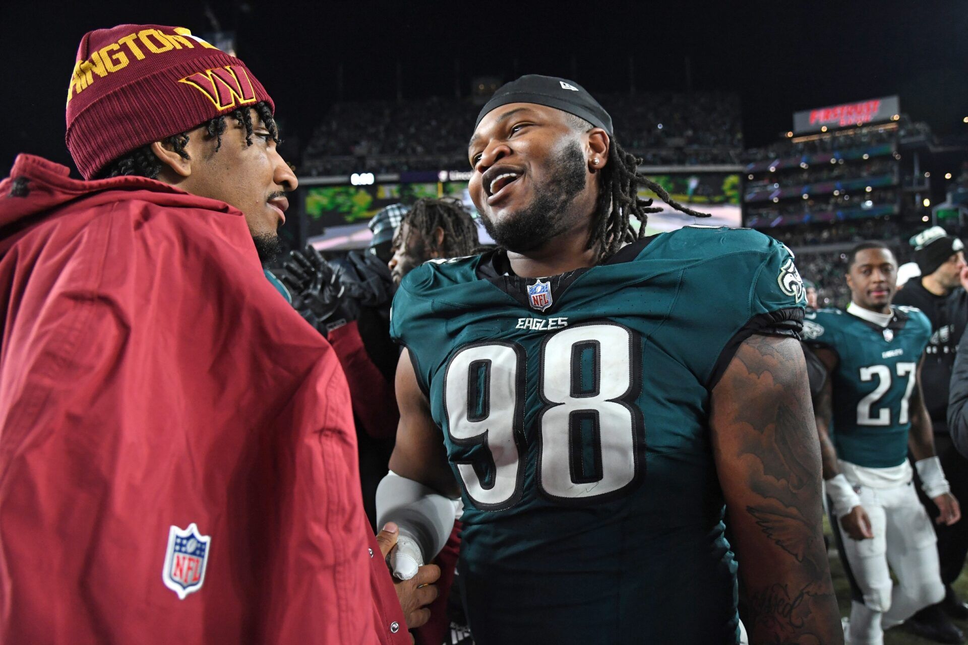
<svg viewBox="0 0 968 645">
<path fill-rule="evenodd" d="M 585 131 L 591 124 L 577 116 L 571 116 L 576 128 Z M 601 263 L 620 249 L 626 242 L 633 242 L 646 236 L 646 221 L 650 213 L 661 213 L 662 209 L 652 206 L 651 199 L 639 197 L 639 187 L 644 186 L 657 194 L 662 201 L 686 215 L 695 218 L 708 218 L 709 213 L 699 213 L 683 206 L 673 199 L 661 186 L 650 180 L 638 170 L 641 159 L 625 152 L 613 136 L 608 150 L 608 163 L 598 171 L 598 203 L 591 220 L 589 246 L 598 246 L 598 263 Z M 639 230 L 631 225 L 631 217 L 639 220 Z"/>
</svg>

